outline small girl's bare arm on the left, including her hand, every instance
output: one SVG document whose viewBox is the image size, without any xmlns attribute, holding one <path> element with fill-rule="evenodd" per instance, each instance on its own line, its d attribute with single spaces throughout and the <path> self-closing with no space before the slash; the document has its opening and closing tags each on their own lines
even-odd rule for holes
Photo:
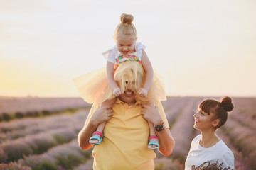
<svg viewBox="0 0 256 170">
<path fill-rule="evenodd" d="M 107 61 L 107 82 L 113 90 L 114 96 L 119 96 L 122 94 L 122 91 L 117 85 L 117 82 L 114 81 L 114 63 L 109 61 Z"/>
</svg>

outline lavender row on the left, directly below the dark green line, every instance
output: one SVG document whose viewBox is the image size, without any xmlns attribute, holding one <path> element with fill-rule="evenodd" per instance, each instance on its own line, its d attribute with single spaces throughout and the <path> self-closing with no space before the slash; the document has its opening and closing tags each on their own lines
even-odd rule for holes
<svg viewBox="0 0 256 170">
<path fill-rule="evenodd" d="M 50 130 L 62 128 L 78 130 L 82 123 L 78 115 L 62 114 L 46 118 L 23 118 L 0 123 L 0 143 L 14 141 L 20 137 L 40 134 L 41 132 L 50 132 Z"/>
</svg>

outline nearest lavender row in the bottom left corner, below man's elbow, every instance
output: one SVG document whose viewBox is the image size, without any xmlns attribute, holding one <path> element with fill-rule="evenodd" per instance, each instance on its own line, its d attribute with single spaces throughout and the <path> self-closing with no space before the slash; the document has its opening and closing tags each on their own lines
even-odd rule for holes
<svg viewBox="0 0 256 170">
<path fill-rule="evenodd" d="M 75 139 L 63 145 L 48 149 L 43 154 L 32 154 L 28 157 L 18 159 L 16 162 L 0 164 L 0 169 L 68 170 L 85 163 L 89 158 L 90 152 L 83 152 L 78 147 L 78 142 Z"/>
</svg>

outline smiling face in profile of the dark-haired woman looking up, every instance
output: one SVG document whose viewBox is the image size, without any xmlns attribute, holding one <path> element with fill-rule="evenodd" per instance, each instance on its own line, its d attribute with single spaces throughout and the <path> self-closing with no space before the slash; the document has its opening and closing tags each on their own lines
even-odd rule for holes
<svg viewBox="0 0 256 170">
<path fill-rule="evenodd" d="M 213 120 L 213 113 L 205 113 L 200 108 L 198 111 L 193 115 L 195 118 L 195 123 L 193 127 L 198 130 L 210 130 L 213 129 L 215 125 L 215 120 Z"/>
</svg>

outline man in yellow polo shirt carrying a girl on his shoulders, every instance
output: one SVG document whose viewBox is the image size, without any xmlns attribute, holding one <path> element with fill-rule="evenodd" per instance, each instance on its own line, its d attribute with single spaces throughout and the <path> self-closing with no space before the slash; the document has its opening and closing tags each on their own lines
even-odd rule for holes
<svg viewBox="0 0 256 170">
<path fill-rule="evenodd" d="M 124 79 L 122 79 L 124 81 Z M 133 170 L 154 169 L 156 154 L 148 149 L 149 125 L 147 120 L 156 126 L 159 137 L 159 152 L 168 156 L 174 147 L 169 125 L 164 110 L 153 102 L 143 103 L 136 97 L 134 81 L 126 81 L 126 88 L 112 105 L 99 108 L 94 104 L 78 134 L 81 149 L 90 149 L 93 145 L 89 139 L 97 125 L 107 121 L 100 145 L 95 145 L 93 169 Z M 161 106 L 161 105 L 157 105 Z M 93 113 L 93 114 L 92 114 Z M 163 125 L 164 122 L 164 126 Z"/>
</svg>

